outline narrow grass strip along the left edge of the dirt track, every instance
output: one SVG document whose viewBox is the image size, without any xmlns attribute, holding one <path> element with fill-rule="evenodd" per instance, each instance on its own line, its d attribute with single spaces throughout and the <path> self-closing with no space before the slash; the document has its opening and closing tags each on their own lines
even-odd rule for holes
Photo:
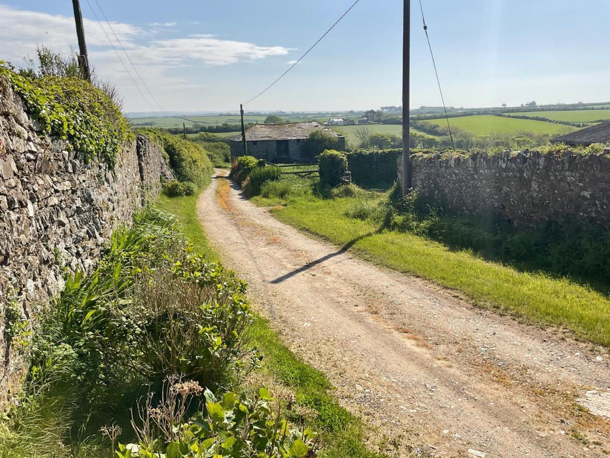
<svg viewBox="0 0 610 458">
<path fill-rule="evenodd" d="M 218 260 L 218 254 L 206 239 L 196 217 L 197 196 L 162 196 L 159 208 L 174 214 L 181 222 L 184 234 L 196 249 Z M 376 458 L 365 445 L 364 430 L 359 419 L 337 404 L 332 396 L 332 384 L 320 371 L 303 363 L 289 351 L 271 328 L 267 319 L 257 317 L 250 338 L 264 355 L 262 376 L 277 380 L 295 394 L 296 404 L 315 410 L 315 423 L 325 432 L 325 447 L 320 456 L 328 458 Z"/>
</svg>

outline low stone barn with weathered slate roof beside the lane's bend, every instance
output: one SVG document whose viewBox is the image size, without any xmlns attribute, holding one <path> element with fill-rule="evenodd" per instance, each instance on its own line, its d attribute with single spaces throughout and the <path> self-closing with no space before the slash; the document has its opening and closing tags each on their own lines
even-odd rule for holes
<svg viewBox="0 0 610 458">
<path fill-rule="evenodd" d="M 317 122 L 257 124 L 246 131 L 248 155 L 269 162 L 311 161 L 301 153 L 301 147 L 309 134 L 316 129 L 324 129 L 339 139 L 339 150 L 345 150 L 345 136 L 331 131 Z M 243 156 L 242 136 L 232 137 L 231 157 Z"/>
</svg>

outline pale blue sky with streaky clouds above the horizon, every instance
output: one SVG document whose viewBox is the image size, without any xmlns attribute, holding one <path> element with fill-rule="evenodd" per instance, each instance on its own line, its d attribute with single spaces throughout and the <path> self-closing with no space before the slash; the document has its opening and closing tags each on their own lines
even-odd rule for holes
<svg viewBox="0 0 610 458">
<path fill-rule="evenodd" d="M 281 75 L 353 0 L 98 2 L 165 111 L 234 111 Z M 150 111 L 87 0 L 81 4 L 91 64 L 119 87 L 126 111 Z M 361 0 L 246 109 L 400 105 L 402 4 Z M 423 0 L 423 6 L 448 105 L 610 100 L 610 1 Z M 439 105 L 417 1 L 411 37 L 411 106 Z M 71 2 L 0 0 L 0 59 L 18 63 L 38 44 L 77 48 Z"/>
</svg>

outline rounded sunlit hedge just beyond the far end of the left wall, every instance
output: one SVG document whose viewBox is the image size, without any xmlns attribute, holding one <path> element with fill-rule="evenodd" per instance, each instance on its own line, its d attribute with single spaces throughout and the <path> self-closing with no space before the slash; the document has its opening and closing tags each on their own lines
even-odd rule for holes
<svg viewBox="0 0 610 458">
<path fill-rule="evenodd" d="M 190 181 L 200 187 L 209 183 L 212 162 L 201 145 L 169 134 L 161 135 L 160 139 L 178 180 Z"/>
</svg>

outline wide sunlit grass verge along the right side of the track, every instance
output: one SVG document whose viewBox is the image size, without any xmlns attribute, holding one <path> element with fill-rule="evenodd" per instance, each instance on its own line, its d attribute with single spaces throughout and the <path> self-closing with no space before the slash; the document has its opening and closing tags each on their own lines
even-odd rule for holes
<svg viewBox="0 0 610 458">
<path fill-rule="evenodd" d="M 519 272 L 413 234 L 379 230 L 373 222 L 345 216 L 355 200 L 254 198 L 258 205 L 273 206 L 279 220 L 337 245 L 350 243 L 351 251 L 376 264 L 462 291 L 480 307 L 569 329 L 580 340 L 610 346 L 610 300 L 603 294 L 564 278 Z"/>
</svg>

